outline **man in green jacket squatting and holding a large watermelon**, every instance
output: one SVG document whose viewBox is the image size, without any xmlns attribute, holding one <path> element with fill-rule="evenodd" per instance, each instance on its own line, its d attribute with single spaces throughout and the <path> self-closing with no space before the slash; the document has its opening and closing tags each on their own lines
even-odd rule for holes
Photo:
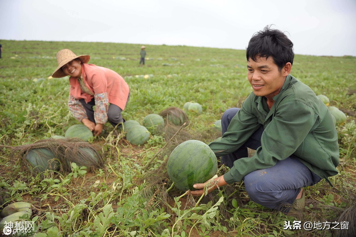
<svg viewBox="0 0 356 237">
<path fill-rule="evenodd" d="M 218 186 L 244 180 L 252 201 L 301 213 L 305 190 L 338 173 L 337 132 L 328 107 L 307 85 L 290 75 L 293 43 L 283 32 L 265 27 L 246 49 L 247 79 L 253 92 L 241 108 L 222 117 L 223 137 L 209 144 L 230 167 Z M 256 150 L 248 157 L 247 148 Z M 204 184 L 193 186 L 203 193 Z M 212 187 L 209 191 L 215 189 Z"/>
</svg>

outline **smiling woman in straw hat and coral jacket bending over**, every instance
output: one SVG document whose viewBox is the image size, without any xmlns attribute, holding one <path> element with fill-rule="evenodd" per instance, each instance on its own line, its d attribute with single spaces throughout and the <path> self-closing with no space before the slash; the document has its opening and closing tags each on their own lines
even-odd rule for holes
<svg viewBox="0 0 356 237">
<path fill-rule="evenodd" d="M 129 85 L 111 69 L 88 64 L 89 55 L 75 55 L 69 49 L 57 53 L 58 67 L 54 78 L 69 77 L 69 110 L 94 135 L 103 131 L 109 121 L 112 126 L 125 120 L 121 112 L 129 99 Z M 95 106 L 95 109 L 93 109 Z"/>
</svg>

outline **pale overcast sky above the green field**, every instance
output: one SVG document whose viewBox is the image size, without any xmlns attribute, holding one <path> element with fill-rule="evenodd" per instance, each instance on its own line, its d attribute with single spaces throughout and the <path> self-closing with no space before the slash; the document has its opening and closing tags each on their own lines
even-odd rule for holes
<svg viewBox="0 0 356 237">
<path fill-rule="evenodd" d="M 356 56 L 356 0 L 0 0 L 0 22 L 0 39 L 232 49 L 274 24 L 296 54 Z"/>
</svg>

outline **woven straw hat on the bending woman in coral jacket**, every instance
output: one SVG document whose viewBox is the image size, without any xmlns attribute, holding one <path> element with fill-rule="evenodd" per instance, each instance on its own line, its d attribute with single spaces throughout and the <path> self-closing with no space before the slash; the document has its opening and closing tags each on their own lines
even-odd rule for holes
<svg viewBox="0 0 356 237">
<path fill-rule="evenodd" d="M 63 67 L 73 59 L 79 58 L 82 63 L 88 63 L 90 59 L 89 55 L 77 56 L 70 49 L 67 48 L 58 51 L 56 57 L 57 57 L 58 67 L 52 74 L 52 77 L 55 78 L 61 78 L 67 76 L 67 74 L 62 71 L 61 67 Z"/>
</svg>

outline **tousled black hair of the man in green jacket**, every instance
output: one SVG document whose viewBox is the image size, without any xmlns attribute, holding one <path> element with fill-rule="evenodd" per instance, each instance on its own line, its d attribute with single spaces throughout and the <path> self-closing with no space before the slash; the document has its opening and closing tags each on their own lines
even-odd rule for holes
<svg viewBox="0 0 356 237">
<path fill-rule="evenodd" d="M 257 57 L 272 57 L 281 71 L 286 63 L 293 65 L 293 43 L 280 30 L 266 26 L 263 31 L 256 32 L 246 48 L 246 58 L 256 62 Z"/>
</svg>

